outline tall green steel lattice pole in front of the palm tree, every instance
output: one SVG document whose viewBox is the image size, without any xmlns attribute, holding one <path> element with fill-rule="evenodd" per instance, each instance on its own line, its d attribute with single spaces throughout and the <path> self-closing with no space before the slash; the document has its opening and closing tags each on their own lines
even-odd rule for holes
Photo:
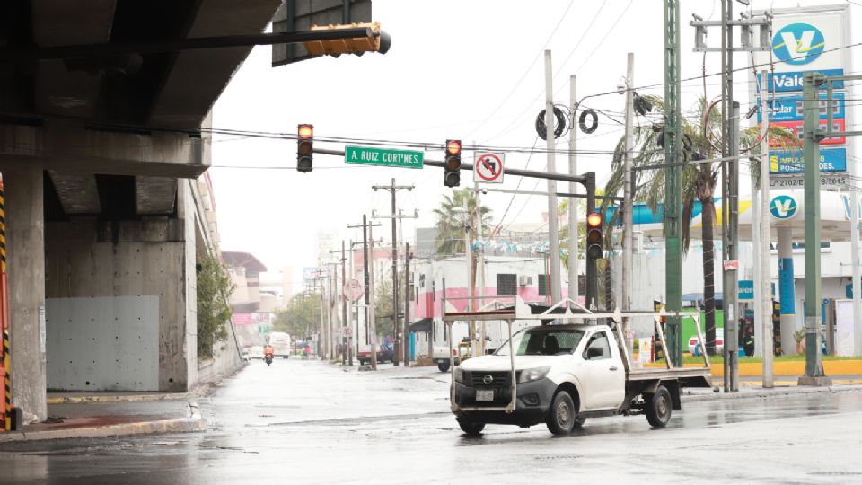
<svg viewBox="0 0 862 485">
<path fill-rule="evenodd" d="M 682 120 L 680 109 L 680 2 L 664 0 L 664 288 L 668 312 L 682 310 Z M 688 221 L 686 221 L 688 224 Z M 668 358 L 682 366 L 680 317 L 667 319 Z"/>
</svg>

